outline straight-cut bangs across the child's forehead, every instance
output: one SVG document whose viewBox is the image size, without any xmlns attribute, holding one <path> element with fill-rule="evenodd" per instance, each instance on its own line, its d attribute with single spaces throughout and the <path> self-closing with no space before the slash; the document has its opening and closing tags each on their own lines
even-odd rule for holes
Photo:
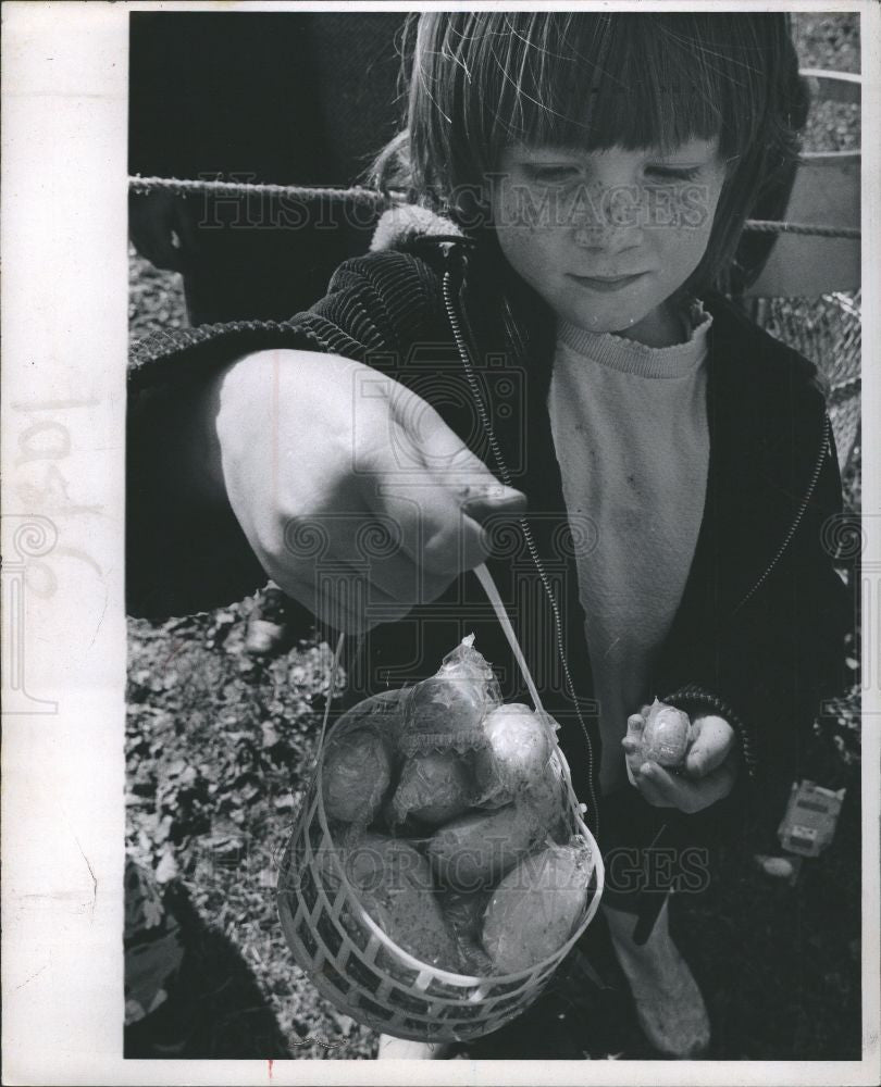
<svg viewBox="0 0 881 1087">
<path fill-rule="evenodd" d="M 531 25 L 518 26 L 522 18 Z M 509 33 L 493 36 L 484 58 L 497 93 L 475 103 L 495 161 L 512 142 L 671 150 L 717 136 L 729 157 L 753 137 L 764 105 L 762 65 L 750 63 L 756 46 L 744 40 L 742 21 L 621 13 L 541 23 L 509 13 L 508 20 Z"/>
</svg>

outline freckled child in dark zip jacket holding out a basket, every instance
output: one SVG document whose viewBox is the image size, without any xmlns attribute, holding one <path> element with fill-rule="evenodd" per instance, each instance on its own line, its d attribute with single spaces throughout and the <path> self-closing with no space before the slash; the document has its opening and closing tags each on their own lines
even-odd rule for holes
<svg viewBox="0 0 881 1087">
<path fill-rule="evenodd" d="M 805 109 L 783 14 L 423 13 L 373 251 L 307 313 L 148 341 L 133 372 L 135 610 L 269 575 L 364 635 L 355 697 L 473 630 L 510 699 L 487 561 L 677 1057 L 709 1024 L 667 894 L 841 683 L 817 371 L 714 289 L 758 273 L 741 233 L 784 207 Z M 656 696 L 695 725 L 682 774 L 638 758 Z"/>
</svg>

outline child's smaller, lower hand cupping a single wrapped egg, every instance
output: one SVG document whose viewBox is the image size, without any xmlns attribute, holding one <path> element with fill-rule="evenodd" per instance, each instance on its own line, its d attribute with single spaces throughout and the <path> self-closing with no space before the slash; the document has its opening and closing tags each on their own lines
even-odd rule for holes
<svg viewBox="0 0 881 1087">
<path fill-rule="evenodd" d="M 693 814 L 722 800 L 734 788 L 740 764 L 736 734 L 715 714 L 692 719 L 692 746 L 681 774 L 671 774 L 642 757 L 642 733 L 648 707 L 628 717 L 624 748 L 628 776 L 654 808 L 678 808 Z"/>
</svg>

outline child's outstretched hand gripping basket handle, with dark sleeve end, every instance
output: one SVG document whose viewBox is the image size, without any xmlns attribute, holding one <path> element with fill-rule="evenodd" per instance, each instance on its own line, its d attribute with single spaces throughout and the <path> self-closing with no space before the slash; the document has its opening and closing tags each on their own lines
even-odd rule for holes
<svg viewBox="0 0 881 1087">
<path fill-rule="evenodd" d="M 152 554 L 152 614 L 163 594 L 201 610 L 206 594 L 226 602 L 272 577 L 361 633 L 483 562 L 475 517 L 522 502 L 425 401 L 339 355 L 250 352 L 134 417 L 129 588 Z"/>
</svg>

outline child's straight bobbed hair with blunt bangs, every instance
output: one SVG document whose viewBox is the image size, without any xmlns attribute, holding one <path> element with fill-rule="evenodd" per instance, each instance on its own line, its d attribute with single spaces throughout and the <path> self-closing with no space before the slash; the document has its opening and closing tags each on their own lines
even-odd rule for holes
<svg viewBox="0 0 881 1087">
<path fill-rule="evenodd" d="M 473 222 L 507 145 L 718 137 L 729 172 L 690 290 L 729 267 L 755 207 L 785 208 L 808 99 L 784 13 L 424 12 L 406 39 L 407 127 L 373 168 L 386 192 Z"/>
</svg>

